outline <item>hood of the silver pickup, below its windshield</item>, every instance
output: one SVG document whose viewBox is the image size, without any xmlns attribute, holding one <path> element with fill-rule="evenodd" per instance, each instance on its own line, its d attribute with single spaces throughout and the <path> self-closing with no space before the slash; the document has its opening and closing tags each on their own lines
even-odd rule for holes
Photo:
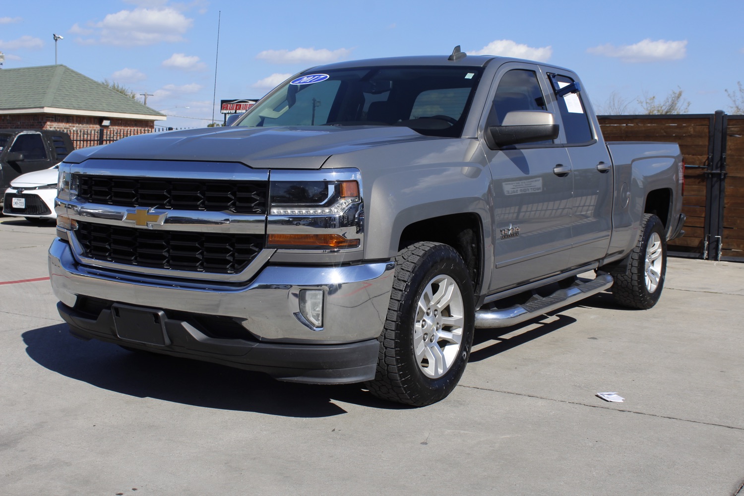
<svg viewBox="0 0 744 496">
<path fill-rule="evenodd" d="M 371 146 L 430 138 L 396 126 L 222 127 L 130 136 L 72 152 L 87 159 L 240 162 L 255 169 L 320 169 L 330 155 Z"/>
</svg>

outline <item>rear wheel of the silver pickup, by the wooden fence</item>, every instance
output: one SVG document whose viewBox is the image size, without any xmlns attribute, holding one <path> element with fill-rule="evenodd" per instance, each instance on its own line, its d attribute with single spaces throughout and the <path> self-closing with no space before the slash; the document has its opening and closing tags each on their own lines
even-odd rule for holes
<svg viewBox="0 0 744 496">
<path fill-rule="evenodd" d="M 667 272 L 664 224 L 647 213 L 641 221 L 641 237 L 629 255 L 626 269 L 611 271 L 615 301 L 632 309 L 650 309 L 661 297 Z"/>
</svg>

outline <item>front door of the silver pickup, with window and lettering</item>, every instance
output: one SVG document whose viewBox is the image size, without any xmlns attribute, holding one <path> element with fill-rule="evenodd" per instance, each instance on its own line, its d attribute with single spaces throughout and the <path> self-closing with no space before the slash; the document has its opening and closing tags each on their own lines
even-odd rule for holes
<svg viewBox="0 0 744 496">
<path fill-rule="evenodd" d="M 499 68 L 481 123 L 498 126 L 515 110 L 556 112 L 539 67 Z M 492 174 L 495 266 L 489 292 L 564 271 L 571 265 L 573 177 L 565 146 L 553 141 L 492 149 L 481 141 Z"/>
</svg>

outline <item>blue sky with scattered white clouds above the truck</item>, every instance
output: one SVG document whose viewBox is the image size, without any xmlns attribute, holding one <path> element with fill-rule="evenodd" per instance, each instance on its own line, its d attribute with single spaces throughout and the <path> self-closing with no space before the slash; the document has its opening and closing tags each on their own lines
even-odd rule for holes
<svg viewBox="0 0 744 496">
<path fill-rule="evenodd" d="M 147 93 L 168 115 L 155 124 L 177 129 L 221 123 L 219 100 L 313 65 L 455 45 L 570 68 L 598 111 L 682 89 L 689 113 L 709 114 L 744 83 L 742 19 L 742 0 L 7 0 L 0 52 L 6 69 L 51 65 L 62 36 L 58 63 Z"/>
</svg>

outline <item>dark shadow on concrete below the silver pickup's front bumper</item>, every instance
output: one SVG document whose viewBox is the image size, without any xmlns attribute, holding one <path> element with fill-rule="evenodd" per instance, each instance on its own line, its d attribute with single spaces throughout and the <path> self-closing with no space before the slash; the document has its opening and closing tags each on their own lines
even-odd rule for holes
<svg viewBox="0 0 744 496">
<path fill-rule="evenodd" d="M 406 409 L 376 399 L 362 384 L 292 384 L 263 373 L 147 352 L 102 341 L 80 341 L 66 324 L 22 335 L 28 356 L 42 367 L 95 387 L 138 398 L 203 408 L 316 418 L 347 413 L 335 402 L 386 410 Z"/>
</svg>

